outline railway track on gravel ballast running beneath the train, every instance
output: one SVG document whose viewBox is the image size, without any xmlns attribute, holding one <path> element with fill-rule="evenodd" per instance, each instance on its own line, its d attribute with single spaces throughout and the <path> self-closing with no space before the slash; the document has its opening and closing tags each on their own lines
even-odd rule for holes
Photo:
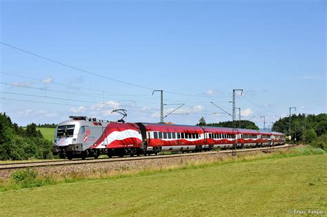
<svg viewBox="0 0 327 217">
<path fill-rule="evenodd" d="M 237 149 L 236 152 L 253 152 L 253 151 L 266 151 L 273 149 L 281 149 L 286 147 L 292 147 L 293 145 L 279 145 L 273 147 L 257 147 L 251 149 Z M 161 154 L 157 156 L 137 156 L 137 157 L 126 157 L 126 158 L 99 158 L 99 159 L 87 159 L 87 160 L 58 160 L 58 161 L 34 161 L 34 162 L 25 162 L 25 163 L 3 163 L 0 164 L 0 170 L 6 169 L 23 169 L 29 167 L 49 167 L 49 166 L 58 166 L 58 165 L 81 165 L 89 163 L 109 163 L 117 161 L 140 161 L 140 160 L 150 160 L 158 158 L 178 158 L 181 156 L 197 156 L 197 155 L 206 155 L 206 154 L 230 154 L 232 153 L 231 149 L 211 151 L 211 152 L 196 152 L 188 154 Z"/>
</svg>

